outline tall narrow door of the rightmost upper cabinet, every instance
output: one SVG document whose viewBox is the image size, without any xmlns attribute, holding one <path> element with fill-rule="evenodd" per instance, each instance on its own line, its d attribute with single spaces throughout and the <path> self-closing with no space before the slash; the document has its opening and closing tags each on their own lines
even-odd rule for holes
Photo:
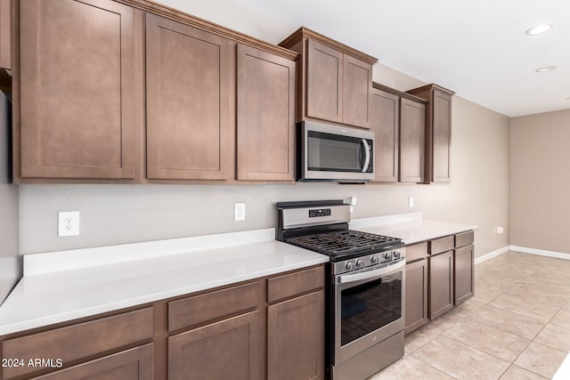
<svg viewBox="0 0 570 380">
<path fill-rule="evenodd" d="M 452 97 L 434 91 L 433 94 L 433 182 L 450 181 L 452 141 Z"/>
</svg>

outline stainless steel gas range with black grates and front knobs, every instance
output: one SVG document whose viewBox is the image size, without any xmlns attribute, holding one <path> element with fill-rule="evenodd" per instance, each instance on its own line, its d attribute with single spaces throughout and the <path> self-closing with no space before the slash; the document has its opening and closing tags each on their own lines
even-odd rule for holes
<svg viewBox="0 0 570 380">
<path fill-rule="evenodd" d="M 401 239 L 349 230 L 342 200 L 281 202 L 276 239 L 328 255 L 327 376 L 365 379 L 403 357 Z"/>
</svg>

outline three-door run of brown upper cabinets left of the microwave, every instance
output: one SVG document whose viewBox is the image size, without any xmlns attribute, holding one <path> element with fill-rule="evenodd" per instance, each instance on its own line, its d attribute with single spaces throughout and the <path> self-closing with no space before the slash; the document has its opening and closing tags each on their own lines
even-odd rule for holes
<svg viewBox="0 0 570 380">
<path fill-rule="evenodd" d="M 123 3 L 0 0 L 0 60 L 4 20 L 20 37 L 15 180 L 293 181 L 298 54 Z"/>
</svg>

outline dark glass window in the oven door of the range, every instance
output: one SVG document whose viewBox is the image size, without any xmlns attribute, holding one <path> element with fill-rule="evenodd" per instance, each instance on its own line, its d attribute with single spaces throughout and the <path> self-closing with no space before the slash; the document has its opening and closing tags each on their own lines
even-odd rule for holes
<svg viewBox="0 0 570 380">
<path fill-rule="evenodd" d="M 402 318 L 402 271 L 341 291 L 344 346 Z"/>
</svg>

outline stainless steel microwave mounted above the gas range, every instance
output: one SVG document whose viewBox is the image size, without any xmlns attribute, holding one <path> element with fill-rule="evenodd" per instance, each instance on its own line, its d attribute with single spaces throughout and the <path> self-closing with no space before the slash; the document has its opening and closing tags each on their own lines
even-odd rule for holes
<svg viewBox="0 0 570 380">
<path fill-rule="evenodd" d="M 302 121 L 297 127 L 299 181 L 366 182 L 374 178 L 373 132 L 314 121 Z"/>
</svg>

